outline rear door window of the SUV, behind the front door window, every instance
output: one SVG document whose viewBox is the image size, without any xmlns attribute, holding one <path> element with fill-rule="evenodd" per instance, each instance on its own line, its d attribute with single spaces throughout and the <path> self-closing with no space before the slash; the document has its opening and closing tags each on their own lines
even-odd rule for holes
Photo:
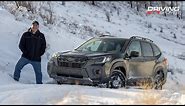
<svg viewBox="0 0 185 106">
<path fill-rule="evenodd" d="M 141 42 L 143 56 L 153 56 L 153 51 L 150 43 Z"/>
</svg>

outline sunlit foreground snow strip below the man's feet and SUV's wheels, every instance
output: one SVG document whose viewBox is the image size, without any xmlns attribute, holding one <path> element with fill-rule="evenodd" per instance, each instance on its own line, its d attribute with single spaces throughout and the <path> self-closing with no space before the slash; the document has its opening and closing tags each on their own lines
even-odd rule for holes
<svg viewBox="0 0 185 106">
<path fill-rule="evenodd" d="M 0 104 L 184 104 L 185 92 L 109 89 L 80 85 L 10 83 L 0 87 Z"/>
</svg>

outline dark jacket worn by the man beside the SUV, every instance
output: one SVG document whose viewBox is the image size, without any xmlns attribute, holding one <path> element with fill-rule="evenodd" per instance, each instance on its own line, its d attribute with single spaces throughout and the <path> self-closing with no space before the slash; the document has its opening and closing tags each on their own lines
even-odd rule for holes
<svg viewBox="0 0 185 106">
<path fill-rule="evenodd" d="M 41 62 L 41 56 L 44 54 L 46 49 L 46 40 L 44 34 L 39 30 L 33 34 L 31 29 L 27 32 L 24 32 L 20 43 L 19 48 L 22 51 L 22 57 L 25 57 L 31 61 Z"/>
</svg>

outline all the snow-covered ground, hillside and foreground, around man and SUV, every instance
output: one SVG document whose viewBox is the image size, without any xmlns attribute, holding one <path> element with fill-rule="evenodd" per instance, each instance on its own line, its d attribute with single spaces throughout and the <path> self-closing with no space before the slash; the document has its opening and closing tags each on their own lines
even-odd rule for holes
<svg viewBox="0 0 185 106">
<path fill-rule="evenodd" d="M 32 20 L 17 17 L 0 6 L 0 104 L 185 104 L 185 22 L 144 13 L 136 15 L 126 5 L 120 6 L 119 16 L 113 12 L 107 22 L 102 7 L 84 2 L 53 2 L 55 25 L 40 25 L 46 36 L 47 51 L 42 57 L 43 85 L 35 84 L 31 65 L 23 68 L 20 82 L 8 74 L 14 72 L 21 56 L 19 39 Z M 21 12 L 20 12 L 21 14 Z M 144 15 L 144 16 L 142 16 Z M 151 25 L 151 26 L 150 26 Z M 162 27 L 162 28 L 161 28 Z M 161 31 L 162 30 L 162 31 Z M 48 58 L 54 52 L 67 51 L 89 39 L 91 34 L 106 33 L 121 37 L 140 35 L 152 39 L 168 58 L 173 73 L 161 91 L 142 89 L 108 89 L 80 85 L 57 85 L 46 70 Z M 174 34 L 177 37 L 174 39 Z"/>
</svg>

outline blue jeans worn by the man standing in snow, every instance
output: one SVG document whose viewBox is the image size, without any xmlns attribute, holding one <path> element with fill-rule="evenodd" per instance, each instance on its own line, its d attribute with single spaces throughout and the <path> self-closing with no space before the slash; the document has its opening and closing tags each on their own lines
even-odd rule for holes
<svg viewBox="0 0 185 106">
<path fill-rule="evenodd" d="M 36 83 L 42 84 L 41 62 L 30 61 L 24 57 L 21 57 L 15 66 L 14 79 L 19 81 L 21 70 L 27 64 L 31 64 L 33 66 L 36 76 Z"/>
</svg>

